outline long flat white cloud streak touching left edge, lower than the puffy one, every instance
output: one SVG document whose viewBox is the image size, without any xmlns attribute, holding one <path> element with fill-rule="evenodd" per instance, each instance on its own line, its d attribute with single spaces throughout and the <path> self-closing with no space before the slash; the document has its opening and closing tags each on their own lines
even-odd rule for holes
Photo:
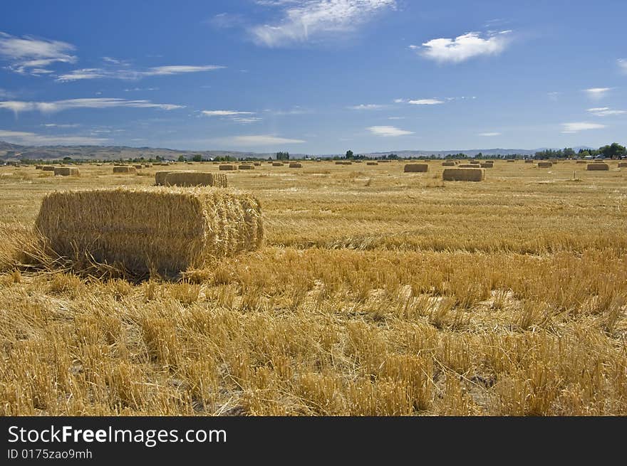
<svg viewBox="0 0 627 466">
<path fill-rule="evenodd" d="M 38 111 L 42 113 L 60 112 L 73 108 L 113 108 L 113 107 L 134 107 L 134 108 L 160 108 L 162 110 L 175 110 L 183 108 L 184 105 L 155 104 L 150 100 L 125 100 L 107 97 L 97 97 L 88 99 L 68 99 L 55 100 L 53 102 L 24 102 L 21 100 L 5 100 L 0 102 L 0 108 L 19 112 Z"/>
</svg>

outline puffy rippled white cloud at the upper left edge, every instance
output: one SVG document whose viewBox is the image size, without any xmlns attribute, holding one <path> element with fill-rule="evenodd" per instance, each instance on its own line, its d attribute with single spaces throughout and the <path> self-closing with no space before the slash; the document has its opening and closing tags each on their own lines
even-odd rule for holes
<svg viewBox="0 0 627 466">
<path fill-rule="evenodd" d="M 46 67 L 53 63 L 75 63 L 71 55 L 75 47 L 70 43 L 22 38 L 0 32 L 0 58 L 9 63 L 9 70 L 19 74 L 42 75 L 52 73 Z"/>
</svg>

